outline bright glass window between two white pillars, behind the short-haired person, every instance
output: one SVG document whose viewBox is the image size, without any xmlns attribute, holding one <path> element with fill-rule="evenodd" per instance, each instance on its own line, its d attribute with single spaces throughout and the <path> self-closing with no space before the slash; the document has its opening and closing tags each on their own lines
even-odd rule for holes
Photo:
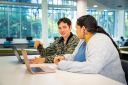
<svg viewBox="0 0 128 85">
<path fill-rule="evenodd" d="M 48 2 L 48 38 L 59 36 L 57 22 L 62 17 L 71 19 L 72 32 L 75 33 L 76 2 L 74 0 L 48 0 Z"/>
</svg>

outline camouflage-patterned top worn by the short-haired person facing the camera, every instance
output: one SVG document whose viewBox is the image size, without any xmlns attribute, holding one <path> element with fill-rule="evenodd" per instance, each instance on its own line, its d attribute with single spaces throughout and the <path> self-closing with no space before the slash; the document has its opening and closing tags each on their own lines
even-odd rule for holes
<svg viewBox="0 0 128 85">
<path fill-rule="evenodd" d="M 45 61 L 46 63 L 52 63 L 56 55 L 72 54 L 78 42 L 79 42 L 78 37 L 71 33 L 65 44 L 63 37 L 60 37 L 59 39 L 56 39 L 47 48 L 43 48 L 42 45 L 39 45 L 37 50 L 39 51 L 42 57 L 46 58 Z"/>
</svg>

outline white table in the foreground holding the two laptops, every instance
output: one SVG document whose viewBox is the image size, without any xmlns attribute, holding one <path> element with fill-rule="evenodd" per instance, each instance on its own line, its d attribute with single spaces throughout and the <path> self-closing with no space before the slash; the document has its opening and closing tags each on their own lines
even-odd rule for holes
<svg viewBox="0 0 128 85">
<path fill-rule="evenodd" d="M 54 64 L 49 65 L 56 68 Z M 0 57 L 0 85 L 123 85 L 99 74 L 78 74 L 60 71 L 48 74 L 30 74 L 15 56 Z"/>
</svg>

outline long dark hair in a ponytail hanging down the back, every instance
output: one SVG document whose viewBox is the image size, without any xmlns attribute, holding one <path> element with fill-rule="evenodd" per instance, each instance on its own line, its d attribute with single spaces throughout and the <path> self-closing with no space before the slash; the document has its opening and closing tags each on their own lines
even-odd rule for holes
<svg viewBox="0 0 128 85">
<path fill-rule="evenodd" d="M 119 55 L 121 56 L 119 48 L 116 45 L 116 43 L 114 42 L 114 40 L 110 37 L 110 35 L 102 27 L 98 26 L 97 21 L 93 16 L 84 15 L 84 16 L 78 18 L 77 25 L 79 25 L 80 27 L 82 27 L 82 26 L 86 27 L 88 32 L 103 33 L 103 34 L 107 35 L 111 39 L 112 43 L 117 48 Z"/>
</svg>

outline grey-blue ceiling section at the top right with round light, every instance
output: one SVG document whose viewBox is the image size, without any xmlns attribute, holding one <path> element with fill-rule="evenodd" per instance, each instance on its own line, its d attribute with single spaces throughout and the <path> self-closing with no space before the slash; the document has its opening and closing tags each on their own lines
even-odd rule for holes
<svg viewBox="0 0 128 85">
<path fill-rule="evenodd" d="M 93 5 L 98 5 L 95 9 L 110 9 L 110 10 L 128 10 L 128 0 L 87 0 L 88 8 L 94 8 Z"/>
</svg>

